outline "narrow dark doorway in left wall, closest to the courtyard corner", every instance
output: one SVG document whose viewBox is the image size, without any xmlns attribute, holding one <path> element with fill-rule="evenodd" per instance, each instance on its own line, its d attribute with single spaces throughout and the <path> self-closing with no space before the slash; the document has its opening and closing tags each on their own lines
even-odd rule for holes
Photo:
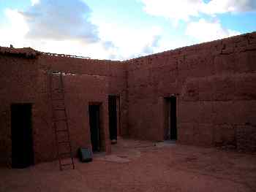
<svg viewBox="0 0 256 192">
<path fill-rule="evenodd" d="M 109 117 L 109 133 L 111 143 L 117 141 L 117 111 L 116 111 L 117 96 L 108 96 L 108 117 Z"/>
</svg>

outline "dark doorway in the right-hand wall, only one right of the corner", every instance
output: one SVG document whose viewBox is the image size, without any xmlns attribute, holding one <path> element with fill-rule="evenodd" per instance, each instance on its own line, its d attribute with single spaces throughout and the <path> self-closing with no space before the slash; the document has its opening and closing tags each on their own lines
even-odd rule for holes
<svg viewBox="0 0 256 192">
<path fill-rule="evenodd" d="M 177 139 L 176 96 L 165 98 L 165 140 Z"/>
</svg>

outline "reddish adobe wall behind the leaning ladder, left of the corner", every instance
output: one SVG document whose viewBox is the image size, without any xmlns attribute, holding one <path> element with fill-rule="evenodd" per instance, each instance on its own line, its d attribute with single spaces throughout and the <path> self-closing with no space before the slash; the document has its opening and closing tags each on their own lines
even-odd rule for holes
<svg viewBox="0 0 256 192">
<path fill-rule="evenodd" d="M 39 55 L 23 58 L 0 55 L 0 162 L 6 162 L 12 151 L 10 105 L 32 103 L 32 128 L 35 163 L 56 158 L 56 143 L 48 98 L 48 69 L 70 73 L 64 76 L 65 102 L 73 153 L 78 147 L 91 145 L 89 135 L 89 102 L 100 102 L 102 110 L 103 147 L 110 153 L 108 133 L 108 95 L 121 96 L 121 134 L 127 130 L 126 79 L 124 64 Z M 55 77 L 56 78 L 56 77 Z"/>
</svg>

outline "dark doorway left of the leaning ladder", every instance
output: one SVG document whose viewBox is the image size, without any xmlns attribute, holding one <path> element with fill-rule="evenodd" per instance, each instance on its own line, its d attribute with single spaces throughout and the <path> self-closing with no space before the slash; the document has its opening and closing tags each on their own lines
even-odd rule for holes
<svg viewBox="0 0 256 192">
<path fill-rule="evenodd" d="M 12 168 L 34 164 L 31 104 L 11 105 Z"/>
</svg>

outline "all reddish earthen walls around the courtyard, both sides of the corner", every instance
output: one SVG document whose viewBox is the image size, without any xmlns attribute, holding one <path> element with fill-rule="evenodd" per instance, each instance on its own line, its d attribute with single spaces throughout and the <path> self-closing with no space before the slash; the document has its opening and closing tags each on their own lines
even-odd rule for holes
<svg viewBox="0 0 256 192">
<path fill-rule="evenodd" d="M 33 52 L 33 50 L 31 50 Z M 178 142 L 256 150 L 256 34 L 183 47 L 129 61 L 0 54 L 0 161 L 11 155 L 10 104 L 32 103 L 36 163 L 56 157 L 48 70 L 64 76 L 73 151 L 89 146 L 89 102 L 121 97 L 121 135 L 163 140 L 165 97 L 177 96 Z M 23 55 L 29 57 L 29 55 Z M 75 75 L 72 75 L 75 74 Z"/>
</svg>

